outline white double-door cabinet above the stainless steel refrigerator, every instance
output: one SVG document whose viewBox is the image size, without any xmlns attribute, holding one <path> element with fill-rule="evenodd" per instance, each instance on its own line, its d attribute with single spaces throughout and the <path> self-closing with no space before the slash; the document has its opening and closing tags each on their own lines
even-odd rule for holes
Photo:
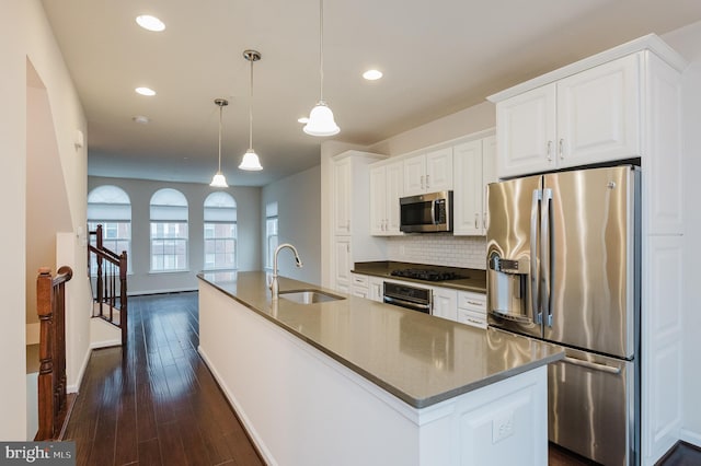
<svg viewBox="0 0 701 466">
<path fill-rule="evenodd" d="M 498 102 L 498 176 L 640 156 L 642 55 Z"/>
</svg>

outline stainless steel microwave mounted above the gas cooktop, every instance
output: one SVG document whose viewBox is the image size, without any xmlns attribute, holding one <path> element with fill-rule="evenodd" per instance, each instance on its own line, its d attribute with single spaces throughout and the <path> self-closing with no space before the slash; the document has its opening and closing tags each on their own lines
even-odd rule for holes
<svg viewBox="0 0 701 466">
<path fill-rule="evenodd" d="M 400 230 L 404 233 L 452 231 L 452 191 L 400 198 Z"/>
</svg>

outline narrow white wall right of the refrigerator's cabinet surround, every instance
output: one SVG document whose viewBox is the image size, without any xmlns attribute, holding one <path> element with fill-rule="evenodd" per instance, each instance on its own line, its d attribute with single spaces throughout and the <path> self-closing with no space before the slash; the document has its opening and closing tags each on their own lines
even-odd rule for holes
<svg viewBox="0 0 701 466">
<path fill-rule="evenodd" d="M 683 189 L 689 199 L 686 208 L 685 226 L 685 295 L 683 303 L 683 426 L 682 439 L 701 445 L 701 305 L 699 304 L 699 282 L 701 271 L 697 266 L 701 261 L 701 209 L 693 199 L 701 198 L 701 22 L 691 24 L 663 36 L 663 39 L 680 53 L 689 67 L 683 72 Z"/>
</svg>

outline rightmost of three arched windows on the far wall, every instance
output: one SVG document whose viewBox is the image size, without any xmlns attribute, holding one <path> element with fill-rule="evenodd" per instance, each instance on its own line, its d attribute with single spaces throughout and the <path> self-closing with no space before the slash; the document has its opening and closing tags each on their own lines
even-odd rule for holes
<svg viewBox="0 0 701 466">
<path fill-rule="evenodd" d="M 237 201 L 216 191 L 205 199 L 205 270 L 237 267 Z"/>
</svg>

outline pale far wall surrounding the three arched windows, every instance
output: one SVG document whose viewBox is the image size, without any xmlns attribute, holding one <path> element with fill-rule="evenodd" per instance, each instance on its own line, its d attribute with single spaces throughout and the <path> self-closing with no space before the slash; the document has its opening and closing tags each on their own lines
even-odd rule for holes
<svg viewBox="0 0 701 466">
<path fill-rule="evenodd" d="M 120 187 L 129 195 L 131 201 L 131 275 L 127 279 L 128 294 L 196 290 L 197 273 L 204 267 L 204 201 L 210 193 L 219 189 L 195 183 L 88 177 L 89 191 L 103 185 Z M 177 189 L 187 199 L 189 269 L 184 272 L 149 272 L 149 206 L 151 196 L 162 188 Z M 238 268 L 261 270 L 261 188 L 231 186 L 225 190 L 237 201 Z"/>
</svg>

